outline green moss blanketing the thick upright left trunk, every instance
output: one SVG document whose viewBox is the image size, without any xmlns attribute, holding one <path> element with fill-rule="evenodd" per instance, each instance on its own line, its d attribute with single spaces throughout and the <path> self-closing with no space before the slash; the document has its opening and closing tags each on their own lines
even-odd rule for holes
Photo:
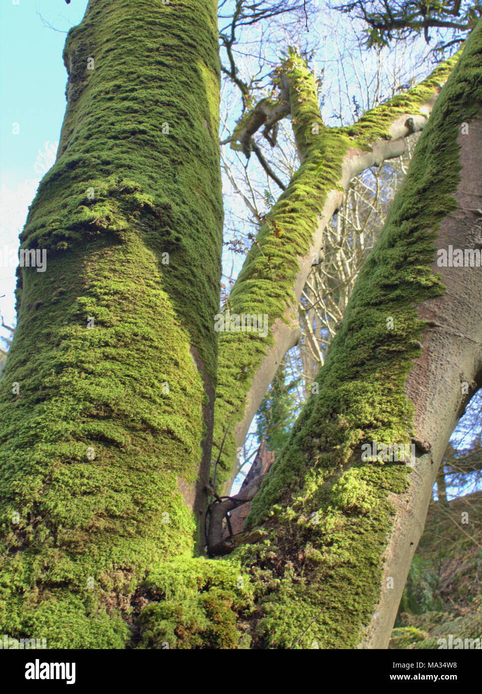
<svg viewBox="0 0 482 694">
<path fill-rule="evenodd" d="M 58 158 L 21 234 L 47 266 L 19 271 L 0 382 L 0 629 L 119 648 L 139 580 L 196 551 L 178 480 L 205 437 L 191 348 L 216 382 L 216 3 L 92 0 L 64 60 Z"/>
</svg>

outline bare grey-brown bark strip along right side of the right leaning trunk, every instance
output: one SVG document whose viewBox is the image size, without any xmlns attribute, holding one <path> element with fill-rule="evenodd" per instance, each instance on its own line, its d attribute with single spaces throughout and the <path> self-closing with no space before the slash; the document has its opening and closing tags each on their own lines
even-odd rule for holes
<svg viewBox="0 0 482 694">
<path fill-rule="evenodd" d="M 480 27 L 479 27 L 480 30 Z M 480 35 L 478 31 L 478 35 Z M 480 41 L 480 39 L 479 39 Z M 472 40 L 471 46 L 476 44 Z M 479 44 L 480 45 L 480 44 Z M 458 135 L 461 181 L 454 195 L 456 208 L 442 219 L 436 246 L 440 249 L 481 248 L 482 226 L 482 110 L 480 52 L 466 49 L 465 75 L 474 79 L 473 90 L 459 101 L 460 125 L 467 133 Z M 479 48 L 480 51 L 480 48 Z M 468 64 L 468 65 L 467 65 Z M 469 66 L 472 69 L 469 69 Z M 459 78 L 460 79 L 460 78 Z M 469 101 L 471 99 L 472 101 Z M 475 108 L 474 108 L 475 107 Z M 450 106 L 446 106 L 449 110 Z M 467 117 L 472 112 L 472 117 Z M 440 115 L 442 119 L 444 115 Z M 381 599 L 363 641 L 365 648 L 386 648 L 408 569 L 422 535 L 425 518 L 442 457 L 468 400 L 482 384 L 482 278 L 480 267 L 438 267 L 446 287 L 443 296 L 417 306 L 420 319 L 429 325 L 422 334 L 422 356 L 415 359 L 405 389 L 415 408 L 415 431 L 430 450 L 418 459 L 407 493 L 393 499 L 397 515 L 384 557 L 384 579 L 393 576 L 393 589 L 382 591 Z M 463 388 L 463 386 L 466 388 Z M 468 387 L 468 388 L 467 388 Z M 469 390 L 468 397 L 463 393 Z M 445 501 L 447 498 L 445 497 Z"/>
</svg>

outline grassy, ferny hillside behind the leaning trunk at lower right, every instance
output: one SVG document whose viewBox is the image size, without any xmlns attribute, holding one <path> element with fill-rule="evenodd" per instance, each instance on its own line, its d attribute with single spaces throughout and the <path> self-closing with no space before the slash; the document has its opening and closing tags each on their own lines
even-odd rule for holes
<svg viewBox="0 0 482 694">
<path fill-rule="evenodd" d="M 482 635 L 481 543 L 482 492 L 431 504 L 390 648 L 438 648 L 448 634 Z"/>
</svg>

